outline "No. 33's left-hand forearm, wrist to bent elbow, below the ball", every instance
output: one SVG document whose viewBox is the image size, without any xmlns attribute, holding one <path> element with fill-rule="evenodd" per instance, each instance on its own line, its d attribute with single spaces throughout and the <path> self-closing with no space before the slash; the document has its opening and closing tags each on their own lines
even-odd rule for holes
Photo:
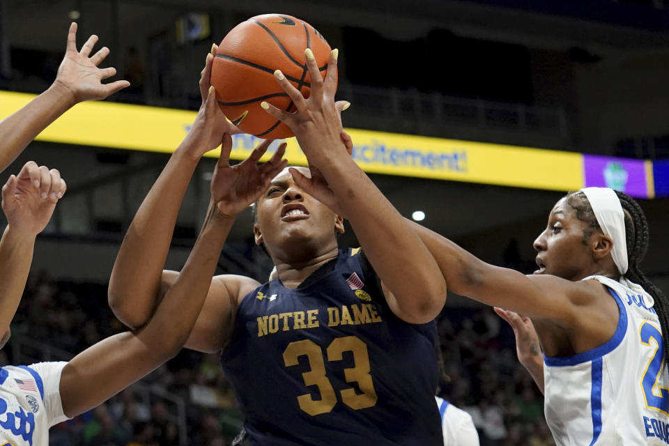
<svg viewBox="0 0 669 446">
<path fill-rule="evenodd" d="M 185 139 L 170 157 L 139 206 L 114 263 L 109 305 L 130 328 L 144 325 L 160 298 L 174 225 L 199 159 L 187 155 L 189 145 Z"/>
</svg>

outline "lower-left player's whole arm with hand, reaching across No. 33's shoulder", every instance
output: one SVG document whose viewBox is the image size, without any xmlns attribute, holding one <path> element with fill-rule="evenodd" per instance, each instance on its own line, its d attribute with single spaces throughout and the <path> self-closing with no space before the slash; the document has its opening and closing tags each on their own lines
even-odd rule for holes
<svg viewBox="0 0 669 446">
<path fill-rule="evenodd" d="M 256 165 L 269 142 L 261 144 L 244 162 L 231 167 L 228 161 L 232 141 L 226 135 L 212 178 L 207 217 L 183 270 L 169 273 L 160 305 L 143 328 L 105 339 L 63 368 L 61 400 L 68 417 L 98 406 L 145 376 L 174 357 L 187 340 L 193 346 L 204 345 L 201 349 L 211 351 L 202 341 L 206 336 L 211 339 L 211 334 L 194 334 L 196 339 L 190 339 L 194 325 L 199 324 L 202 331 L 210 328 L 210 321 L 215 321 L 218 326 L 210 331 L 220 332 L 222 325 L 229 322 L 233 302 L 257 286 L 257 282 L 236 276 L 217 277 L 213 284 L 212 276 L 236 216 L 266 190 L 285 165 L 281 161 L 283 147 L 270 162 Z M 217 305 L 201 311 L 205 302 Z M 220 349 L 221 339 L 217 342 Z"/>
</svg>

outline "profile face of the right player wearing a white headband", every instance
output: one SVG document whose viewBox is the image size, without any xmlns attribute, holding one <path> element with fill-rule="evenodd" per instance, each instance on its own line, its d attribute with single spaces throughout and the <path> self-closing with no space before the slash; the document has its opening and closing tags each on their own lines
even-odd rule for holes
<svg viewBox="0 0 669 446">
<path fill-rule="evenodd" d="M 535 274 L 551 274 L 563 279 L 580 280 L 592 266 L 590 247 L 583 243 L 587 223 L 578 220 L 567 198 L 557 201 L 544 232 L 535 240 Z"/>
</svg>

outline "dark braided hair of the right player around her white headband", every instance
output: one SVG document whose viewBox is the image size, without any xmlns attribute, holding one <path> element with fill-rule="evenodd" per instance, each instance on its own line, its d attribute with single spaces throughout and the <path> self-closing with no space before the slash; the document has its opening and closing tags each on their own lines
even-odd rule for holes
<svg viewBox="0 0 669 446">
<path fill-rule="evenodd" d="M 615 191 L 620 200 L 625 215 L 625 236 L 627 245 L 627 277 L 631 282 L 639 284 L 655 300 L 654 309 L 660 320 L 662 337 L 666 339 L 669 334 L 669 300 L 666 295 L 641 272 L 641 261 L 646 255 L 650 234 L 646 216 L 639 204 L 632 197 L 622 192 Z M 576 211 L 576 218 L 587 222 L 589 231 L 584 231 L 583 243 L 587 243 L 592 231 L 601 231 L 597 217 L 594 216 L 590 201 L 583 192 L 569 192 L 567 203 Z M 585 233 L 587 232 L 587 233 Z M 669 358 L 669 342 L 664 342 L 664 357 Z"/>
</svg>

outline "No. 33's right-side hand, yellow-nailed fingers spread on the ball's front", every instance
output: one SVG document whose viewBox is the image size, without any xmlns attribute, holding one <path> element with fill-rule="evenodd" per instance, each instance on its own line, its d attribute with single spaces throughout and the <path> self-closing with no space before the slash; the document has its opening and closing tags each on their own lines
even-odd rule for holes
<svg viewBox="0 0 669 446">
<path fill-rule="evenodd" d="M 334 102 L 334 94 L 337 93 L 337 55 L 338 50 L 334 49 L 330 54 L 328 72 L 323 80 L 312 50 L 309 48 L 305 50 L 311 77 L 311 93 L 308 99 L 295 89 L 280 70 L 275 71 L 277 82 L 293 100 L 297 112 L 284 112 L 268 102 L 261 102 L 261 107 L 266 112 L 293 130 L 302 151 L 307 155 L 309 164 L 316 167 L 328 162 L 332 155 L 346 153 L 346 146 L 340 136 L 341 112 L 350 104 L 346 101 Z"/>
</svg>

